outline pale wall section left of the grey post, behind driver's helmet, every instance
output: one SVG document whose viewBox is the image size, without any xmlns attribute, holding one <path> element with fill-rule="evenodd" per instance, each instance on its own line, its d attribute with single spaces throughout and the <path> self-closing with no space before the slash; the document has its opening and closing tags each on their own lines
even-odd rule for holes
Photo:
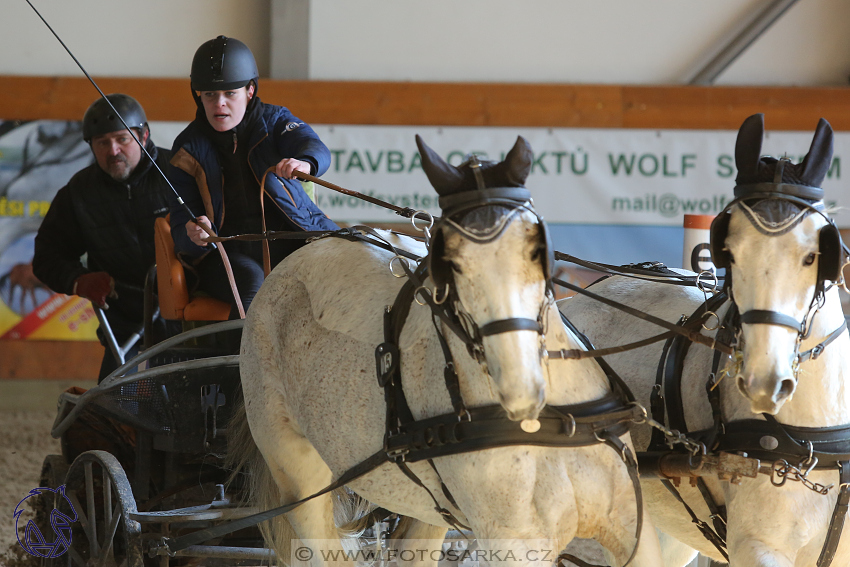
<svg viewBox="0 0 850 567">
<path fill-rule="evenodd" d="M 92 75 L 189 77 L 192 55 L 219 34 L 244 41 L 268 74 L 269 0 L 31 0 Z M 0 5 L 0 74 L 79 69 L 24 0 Z"/>
</svg>

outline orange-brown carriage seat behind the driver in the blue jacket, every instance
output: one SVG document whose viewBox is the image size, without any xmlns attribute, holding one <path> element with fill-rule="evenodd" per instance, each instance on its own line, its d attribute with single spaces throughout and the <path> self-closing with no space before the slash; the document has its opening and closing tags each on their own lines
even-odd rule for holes
<svg viewBox="0 0 850 567">
<path fill-rule="evenodd" d="M 154 223 L 156 282 L 159 311 L 164 319 L 178 321 L 226 321 L 230 304 L 212 297 L 189 296 L 186 272 L 174 252 L 171 223 L 159 217 Z"/>
</svg>

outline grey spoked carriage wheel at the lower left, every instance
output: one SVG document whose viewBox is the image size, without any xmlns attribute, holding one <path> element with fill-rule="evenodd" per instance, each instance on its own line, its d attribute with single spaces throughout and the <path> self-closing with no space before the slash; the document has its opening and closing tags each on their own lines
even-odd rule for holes
<svg viewBox="0 0 850 567">
<path fill-rule="evenodd" d="M 59 498 L 57 509 L 76 513 L 71 545 L 59 557 L 78 567 L 143 567 L 141 526 L 130 519 L 136 501 L 124 469 L 105 451 L 87 451 L 71 464 L 65 494 L 74 507 Z"/>
</svg>

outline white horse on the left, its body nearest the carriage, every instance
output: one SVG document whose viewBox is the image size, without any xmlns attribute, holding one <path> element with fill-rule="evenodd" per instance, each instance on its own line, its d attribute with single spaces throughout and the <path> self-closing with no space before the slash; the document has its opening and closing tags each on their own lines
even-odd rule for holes
<svg viewBox="0 0 850 567">
<path fill-rule="evenodd" d="M 466 407 L 501 404 L 499 411 L 514 421 L 500 423 L 522 434 L 518 422 L 524 420 L 533 430 L 546 414 L 544 404 L 609 394 L 596 363 L 547 362 L 541 354 L 543 348 L 580 347 L 547 291 L 545 226 L 521 188 L 531 165 L 525 140 L 517 140 L 504 162 L 472 160 L 459 168 L 446 164 L 418 137 L 417 143 L 444 210 L 430 256 L 431 277 L 440 284 L 425 282 L 439 288 L 431 301 L 446 301 L 450 311 L 459 313 L 465 332 L 475 335 L 477 327 L 484 335 L 467 348 L 455 331 L 438 322 Z M 384 310 L 404 283 L 388 269 L 393 256 L 375 246 L 326 238 L 284 260 L 257 294 L 245 322 L 240 363 L 256 445 L 243 431 L 231 446 L 242 450 L 242 462 L 257 465 L 252 479 L 259 505 L 304 498 L 384 446 L 387 410 L 376 379 L 375 348 L 384 342 Z M 395 271 L 400 267 L 396 264 Z M 501 277 L 487 276 L 494 273 Z M 420 293 L 419 299 L 425 299 Z M 404 395 L 416 420 L 453 412 L 434 318 L 428 306 L 412 304 L 398 340 Z M 487 327 L 493 322 L 508 328 Z M 480 362 L 471 352 L 479 353 Z M 622 438 L 629 442 L 627 433 Z M 440 508 L 469 526 L 484 548 L 501 551 L 489 557 L 491 563 L 504 561 L 502 546 L 508 545 L 521 564 L 549 565 L 578 535 L 597 539 L 623 565 L 638 546 L 638 514 L 647 516 L 636 510 L 620 454 L 598 443 L 503 446 L 441 456 L 433 466 L 427 461 L 407 465 Z M 451 524 L 435 510 L 429 493 L 396 464 L 384 463 L 348 486 L 375 505 L 413 518 L 404 524 L 404 535 L 427 541 L 407 545 L 440 549 Z M 286 520 L 279 517 L 267 540 L 287 562 L 290 526 L 313 549 L 338 550 L 332 508 L 329 495 L 309 500 L 287 513 Z M 423 559 L 420 552 L 418 562 L 433 564 L 435 557 L 424 554 Z M 317 552 L 310 563 L 334 563 L 325 559 Z M 658 541 L 647 522 L 632 564 L 656 567 L 659 562 Z"/>
</svg>

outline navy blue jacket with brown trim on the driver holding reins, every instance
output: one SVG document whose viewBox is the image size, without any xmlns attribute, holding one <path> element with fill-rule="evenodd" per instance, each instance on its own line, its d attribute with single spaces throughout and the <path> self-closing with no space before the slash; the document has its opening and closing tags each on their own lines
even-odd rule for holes
<svg viewBox="0 0 850 567">
<path fill-rule="evenodd" d="M 257 104 L 263 104 L 257 101 Z M 196 118 L 174 140 L 169 179 L 196 216 L 206 215 L 216 233 L 224 222 L 223 178 L 218 153 Z M 248 164 L 260 183 L 269 167 L 284 158 L 296 158 L 312 165 L 312 175 L 328 170 L 331 153 L 310 126 L 288 109 L 263 104 L 260 125 L 249 136 Z M 339 227 L 310 200 L 301 183 L 269 174 L 265 184 L 266 202 L 283 213 L 287 226 L 269 226 L 269 230 L 337 230 Z M 259 196 L 258 196 L 259 197 Z M 280 216 L 280 215 L 278 215 Z M 171 205 L 171 235 L 174 248 L 190 258 L 199 258 L 210 247 L 194 244 L 186 235 L 191 219 L 176 200 Z"/>
</svg>

